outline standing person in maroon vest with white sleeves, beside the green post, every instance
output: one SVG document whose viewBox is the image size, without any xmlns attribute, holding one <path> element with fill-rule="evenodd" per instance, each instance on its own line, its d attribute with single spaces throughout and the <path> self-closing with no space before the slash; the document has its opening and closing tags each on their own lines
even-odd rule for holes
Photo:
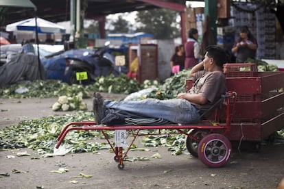
<svg viewBox="0 0 284 189">
<path fill-rule="evenodd" d="M 198 30 L 189 29 L 189 38 L 185 43 L 185 69 L 192 68 L 202 59 L 200 45 L 198 43 Z"/>
</svg>

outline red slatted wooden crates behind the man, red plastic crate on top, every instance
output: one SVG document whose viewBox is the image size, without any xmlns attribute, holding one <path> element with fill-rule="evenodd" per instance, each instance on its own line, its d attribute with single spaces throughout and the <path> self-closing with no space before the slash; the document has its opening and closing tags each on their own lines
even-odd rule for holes
<svg viewBox="0 0 284 189">
<path fill-rule="evenodd" d="M 253 63 L 225 64 L 224 73 L 237 92 L 230 140 L 260 141 L 284 127 L 284 73 L 257 72 Z"/>
</svg>

